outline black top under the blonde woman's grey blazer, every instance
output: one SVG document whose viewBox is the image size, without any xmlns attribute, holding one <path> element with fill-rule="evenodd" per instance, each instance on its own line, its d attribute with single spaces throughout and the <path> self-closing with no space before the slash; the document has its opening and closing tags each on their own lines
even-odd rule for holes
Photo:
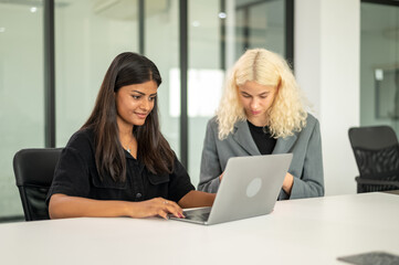
<svg viewBox="0 0 399 265">
<path fill-rule="evenodd" d="M 261 155 L 271 155 L 274 150 L 275 142 L 277 140 L 271 136 L 269 131 L 269 126 L 265 127 L 254 126 L 249 120 L 248 120 L 248 126 L 250 127 L 253 141 L 256 144 L 256 147 L 261 152 Z"/>
</svg>

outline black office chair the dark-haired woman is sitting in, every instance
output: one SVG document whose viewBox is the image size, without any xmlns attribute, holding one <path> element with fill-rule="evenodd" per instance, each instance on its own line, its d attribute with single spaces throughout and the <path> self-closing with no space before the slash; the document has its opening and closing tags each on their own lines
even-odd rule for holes
<svg viewBox="0 0 399 265">
<path fill-rule="evenodd" d="M 22 149 L 13 159 L 17 187 L 27 221 L 48 220 L 45 198 L 62 148 Z"/>
</svg>

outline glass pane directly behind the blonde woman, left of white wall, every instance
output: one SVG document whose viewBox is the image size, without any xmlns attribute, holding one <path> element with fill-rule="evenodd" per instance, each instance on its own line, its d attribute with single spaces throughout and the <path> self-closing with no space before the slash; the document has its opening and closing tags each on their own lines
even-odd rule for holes
<svg viewBox="0 0 399 265">
<path fill-rule="evenodd" d="M 251 47 L 285 56 L 285 1 L 190 0 L 188 7 L 188 168 L 197 186 L 207 123 L 227 71 Z"/>
</svg>

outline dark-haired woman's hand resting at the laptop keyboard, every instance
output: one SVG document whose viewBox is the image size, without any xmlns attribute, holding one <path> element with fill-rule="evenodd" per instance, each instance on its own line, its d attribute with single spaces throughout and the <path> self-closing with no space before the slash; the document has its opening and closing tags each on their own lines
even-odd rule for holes
<svg viewBox="0 0 399 265">
<path fill-rule="evenodd" d="M 185 218 L 182 209 L 174 201 L 164 198 L 155 198 L 143 202 L 132 202 L 129 209 L 130 218 L 151 218 L 161 216 L 168 219 L 168 214 L 174 214 L 176 218 Z"/>
</svg>

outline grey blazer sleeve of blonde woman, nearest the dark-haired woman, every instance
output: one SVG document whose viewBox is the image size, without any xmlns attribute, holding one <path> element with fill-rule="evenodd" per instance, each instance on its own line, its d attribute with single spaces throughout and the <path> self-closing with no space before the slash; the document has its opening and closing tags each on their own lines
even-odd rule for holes
<svg viewBox="0 0 399 265">
<path fill-rule="evenodd" d="M 198 190 L 216 193 L 219 189 L 219 176 L 222 173 L 217 150 L 217 121 L 208 121 L 202 148 L 201 171 Z"/>
</svg>

